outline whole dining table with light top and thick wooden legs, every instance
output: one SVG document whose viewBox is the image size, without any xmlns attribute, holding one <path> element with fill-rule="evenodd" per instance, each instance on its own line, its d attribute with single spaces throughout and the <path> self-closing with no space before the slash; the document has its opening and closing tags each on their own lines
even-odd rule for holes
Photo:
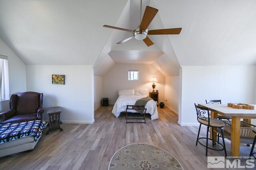
<svg viewBox="0 0 256 170">
<path fill-rule="evenodd" d="M 228 107 L 227 104 L 198 104 L 201 107 L 209 108 L 211 112 L 211 118 L 218 119 L 218 114 L 226 117 L 232 117 L 231 120 L 231 156 L 234 158 L 238 158 L 240 154 L 240 121 L 244 119 L 244 121 L 250 123 L 250 119 L 256 119 L 256 110 L 250 109 L 233 109 L 232 107 Z M 253 105 L 256 108 L 256 105 Z M 212 136 L 212 130 L 214 130 Z M 225 137 L 225 134 L 224 134 Z M 217 128 L 211 128 L 210 138 L 216 140 L 217 139 Z M 242 139 L 242 138 L 241 138 Z M 248 138 L 245 140 L 248 141 Z M 249 139 L 250 140 L 250 139 Z M 252 139 L 253 140 L 253 139 Z"/>
</svg>

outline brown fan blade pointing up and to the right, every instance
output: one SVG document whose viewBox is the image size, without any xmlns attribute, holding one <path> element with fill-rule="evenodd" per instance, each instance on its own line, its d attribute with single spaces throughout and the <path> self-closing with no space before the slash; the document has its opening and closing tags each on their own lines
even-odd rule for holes
<svg viewBox="0 0 256 170">
<path fill-rule="evenodd" d="M 140 29 L 146 30 L 151 23 L 151 21 L 156 16 L 156 13 L 158 12 L 158 9 L 152 8 L 150 6 L 146 6 L 146 10 L 144 12 L 143 18 L 140 23 Z"/>
</svg>

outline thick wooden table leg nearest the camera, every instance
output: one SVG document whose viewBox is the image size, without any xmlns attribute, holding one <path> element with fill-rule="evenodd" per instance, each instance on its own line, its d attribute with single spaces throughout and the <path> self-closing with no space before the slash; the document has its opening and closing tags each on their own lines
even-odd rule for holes
<svg viewBox="0 0 256 170">
<path fill-rule="evenodd" d="M 231 156 L 240 154 L 240 118 L 232 117 L 231 123 Z"/>
</svg>

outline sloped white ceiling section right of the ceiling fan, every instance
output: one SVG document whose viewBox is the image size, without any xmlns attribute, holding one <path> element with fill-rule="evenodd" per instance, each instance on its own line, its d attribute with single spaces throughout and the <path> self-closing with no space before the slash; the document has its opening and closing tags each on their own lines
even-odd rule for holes
<svg viewBox="0 0 256 170">
<path fill-rule="evenodd" d="M 256 1 L 154 0 L 180 65 L 255 65 Z"/>
</svg>

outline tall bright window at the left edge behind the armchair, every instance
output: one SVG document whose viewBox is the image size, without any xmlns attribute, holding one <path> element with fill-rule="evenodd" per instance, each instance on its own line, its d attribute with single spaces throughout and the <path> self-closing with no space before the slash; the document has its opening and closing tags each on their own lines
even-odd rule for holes
<svg viewBox="0 0 256 170">
<path fill-rule="evenodd" d="M 0 55 L 0 101 L 9 100 L 8 57 Z"/>
</svg>

